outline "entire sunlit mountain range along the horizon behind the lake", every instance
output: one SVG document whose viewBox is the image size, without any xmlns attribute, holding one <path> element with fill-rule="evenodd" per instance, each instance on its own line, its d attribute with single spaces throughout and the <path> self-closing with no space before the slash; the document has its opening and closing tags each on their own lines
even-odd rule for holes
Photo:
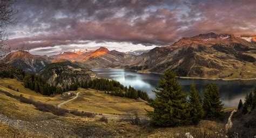
<svg viewBox="0 0 256 138">
<path fill-rule="evenodd" d="M 71 61 L 79 67 L 123 68 L 139 72 L 176 71 L 182 77 L 248 79 L 256 78 L 255 37 L 206 33 L 182 38 L 173 45 L 156 47 L 139 54 L 122 53 L 100 47 L 74 50 L 53 56 L 32 55 L 17 51 L 7 55 L 4 63 L 26 72 L 40 73 L 52 62 Z"/>
</svg>

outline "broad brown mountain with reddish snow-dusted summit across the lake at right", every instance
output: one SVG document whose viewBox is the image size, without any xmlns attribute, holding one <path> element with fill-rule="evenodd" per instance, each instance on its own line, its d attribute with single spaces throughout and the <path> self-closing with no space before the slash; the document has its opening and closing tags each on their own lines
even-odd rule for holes
<svg viewBox="0 0 256 138">
<path fill-rule="evenodd" d="M 256 45 L 227 34 L 200 34 L 167 47 L 157 47 L 125 64 L 144 72 L 171 69 L 178 76 L 256 78 Z"/>
</svg>

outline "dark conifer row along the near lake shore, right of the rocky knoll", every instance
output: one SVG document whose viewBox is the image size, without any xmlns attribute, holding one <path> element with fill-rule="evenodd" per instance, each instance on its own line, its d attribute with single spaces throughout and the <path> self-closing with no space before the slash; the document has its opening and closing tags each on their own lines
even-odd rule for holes
<svg viewBox="0 0 256 138">
<path fill-rule="evenodd" d="M 118 81 L 105 78 L 96 78 L 90 81 L 83 82 L 81 84 L 81 87 L 85 89 L 91 88 L 105 91 L 107 94 L 112 96 L 126 97 L 132 99 L 138 99 L 140 97 L 143 100 L 149 100 L 149 96 L 146 92 L 135 90 L 131 86 L 127 88 L 126 86 L 120 84 Z"/>
</svg>

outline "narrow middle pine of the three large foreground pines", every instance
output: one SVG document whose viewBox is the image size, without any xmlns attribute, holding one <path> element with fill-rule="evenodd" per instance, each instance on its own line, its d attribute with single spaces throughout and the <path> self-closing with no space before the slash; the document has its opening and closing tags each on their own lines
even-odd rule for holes
<svg viewBox="0 0 256 138">
<path fill-rule="evenodd" d="M 190 96 L 189 96 L 189 108 L 190 108 L 190 118 L 194 125 L 197 125 L 199 121 L 203 118 L 203 106 L 201 104 L 200 96 L 196 90 L 194 83 L 190 86 Z"/>
</svg>

